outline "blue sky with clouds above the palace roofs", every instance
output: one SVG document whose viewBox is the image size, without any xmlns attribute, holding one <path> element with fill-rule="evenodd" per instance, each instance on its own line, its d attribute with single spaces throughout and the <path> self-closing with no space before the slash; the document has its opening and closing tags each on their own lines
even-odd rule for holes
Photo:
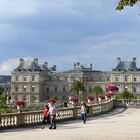
<svg viewBox="0 0 140 140">
<path fill-rule="evenodd" d="M 140 67 L 140 5 L 116 11 L 118 0 L 0 0 L 0 75 L 19 59 L 57 71 L 75 62 L 111 71 L 117 57 Z"/>
</svg>

